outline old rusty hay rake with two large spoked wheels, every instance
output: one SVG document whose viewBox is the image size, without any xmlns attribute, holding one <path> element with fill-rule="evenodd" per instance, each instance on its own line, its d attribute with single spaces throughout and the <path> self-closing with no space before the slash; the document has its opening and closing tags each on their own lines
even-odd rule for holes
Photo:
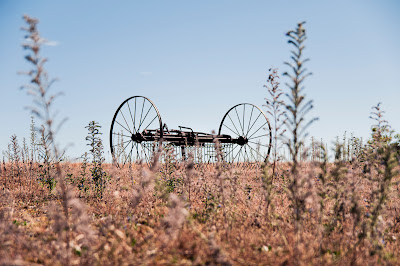
<svg viewBox="0 0 400 266">
<path fill-rule="evenodd" d="M 214 146 L 216 140 L 220 143 L 219 153 Z M 228 163 L 262 162 L 268 160 L 271 142 L 267 116 L 249 103 L 229 109 L 215 135 L 182 126 L 179 130 L 168 129 L 151 100 L 133 96 L 118 107 L 110 129 L 111 154 L 118 164 L 149 163 L 159 147 L 172 150 L 182 160 L 192 154 L 196 162 L 212 163 L 220 154 L 220 159 Z"/>
</svg>

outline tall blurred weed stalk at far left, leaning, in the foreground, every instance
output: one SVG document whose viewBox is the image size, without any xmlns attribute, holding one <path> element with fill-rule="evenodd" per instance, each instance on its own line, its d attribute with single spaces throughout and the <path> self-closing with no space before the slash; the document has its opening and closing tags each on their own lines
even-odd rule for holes
<svg viewBox="0 0 400 266">
<path fill-rule="evenodd" d="M 37 117 L 42 119 L 44 126 L 41 129 L 42 137 L 48 137 L 48 143 L 51 150 L 51 156 L 55 158 L 55 179 L 60 185 L 59 195 L 61 197 L 62 212 L 54 211 L 50 212 L 53 215 L 50 218 L 55 221 L 55 230 L 59 233 L 60 244 L 59 255 L 60 262 L 65 265 L 71 264 L 71 231 L 85 231 L 86 233 L 90 230 L 80 230 L 83 228 L 78 226 L 80 223 L 87 221 L 85 219 L 85 212 L 83 205 L 74 198 L 71 190 L 67 187 L 65 180 L 63 179 L 60 161 L 62 158 L 62 152 L 60 152 L 56 141 L 55 135 L 58 129 L 61 127 L 62 120 L 58 125 L 54 124 L 55 113 L 53 112 L 54 100 L 60 95 L 51 94 L 50 89 L 56 79 L 49 78 L 49 75 L 44 67 L 47 62 L 47 58 L 40 55 L 40 51 L 43 45 L 47 43 L 47 40 L 42 38 L 38 31 L 39 20 L 25 15 L 25 22 L 27 27 L 23 27 L 22 30 L 26 33 L 25 42 L 22 47 L 27 50 L 25 59 L 31 64 L 32 69 L 24 72 L 29 78 L 29 84 L 23 85 L 22 88 L 27 90 L 28 94 L 33 97 L 33 102 L 36 106 L 30 107 L 30 110 Z M 45 141 L 47 142 L 47 141 Z M 71 223 L 70 219 L 73 218 L 76 223 Z M 86 235 L 86 234 L 85 234 Z M 61 250 L 61 252 L 60 252 Z"/>
</svg>

